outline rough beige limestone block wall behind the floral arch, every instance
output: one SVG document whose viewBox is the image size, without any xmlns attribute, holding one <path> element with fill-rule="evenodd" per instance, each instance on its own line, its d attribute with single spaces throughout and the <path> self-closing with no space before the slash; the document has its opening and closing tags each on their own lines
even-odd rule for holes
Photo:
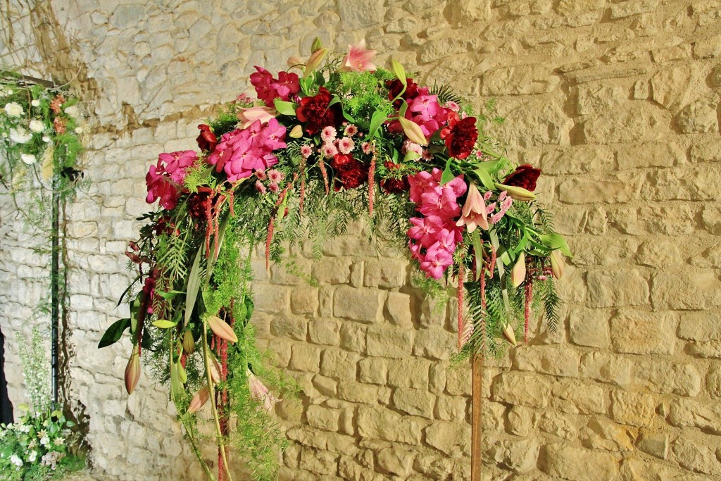
<svg viewBox="0 0 721 481">
<path fill-rule="evenodd" d="M 15 17 L 4 12 L 30 25 L 20 61 L 76 76 L 89 99 L 93 184 L 68 210 L 68 392 L 96 467 L 198 479 L 164 388 L 143 376 L 128 399 L 129 346 L 94 346 L 124 314 L 122 252 L 147 210 L 146 165 L 193 148 L 195 125 L 247 90 L 252 66 L 283 69 L 319 35 L 336 50 L 365 37 L 379 64 L 417 66 L 420 81 L 479 107 L 497 98 L 495 134 L 544 169 L 541 201 L 575 253 L 559 283 L 564 322 L 555 333 L 539 323 L 531 345 L 487 365 L 485 479 L 721 476 L 721 1 L 227 3 L 64 0 L 29 15 L 12 0 Z M 12 343 L 35 274 L 17 255 L 19 226 L 2 229 L 0 319 L 18 402 Z M 454 313 L 433 314 L 402 255 L 362 237 L 298 260 L 318 288 L 259 261 L 262 342 L 304 388 L 276 409 L 291 440 L 281 479 L 468 479 L 470 376 L 448 366 Z"/>
</svg>

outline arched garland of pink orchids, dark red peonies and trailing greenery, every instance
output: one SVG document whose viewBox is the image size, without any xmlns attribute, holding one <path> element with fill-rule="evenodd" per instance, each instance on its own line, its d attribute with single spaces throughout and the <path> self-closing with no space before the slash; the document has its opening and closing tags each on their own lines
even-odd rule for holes
<svg viewBox="0 0 721 481">
<path fill-rule="evenodd" d="M 256 479 L 277 468 L 265 412 L 275 397 L 259 378 L 277 393 L 282 378 L 262 363 L 249 323 L 257 244 L 267 264 L 295 239 L 310 239 L 319 256 L 324 239 L 365 216 L 410 250 L 420 286 L 458 286 L 466 355 L 499 352 L 503 336 L 515 345 L 517 329 L 527 340 L 534 311 L 557 322 L 552 278 L 570 252 L 535 202 L 541 171 L 498 154 L 487 119 L 449 89 L 418 85 L 395 61 L 392 71 L 376 68 L 374 55 L 362 41 L 327 59 L 317 40 L 307 60 L 288 60 L 299 74 L 256 67 L 257 100 L 230 102 L 199 125 L 200 151 L 160 154 L 146 176 L 147 201 L 161 208 L 142 218 L 127 252 L 138 272 L 121 298 L 131 316 L 100 346 L 130 329 L 128 393 L 142 355 L 169 382 L 197 454 L 195 412 L 210 405 L 218 479 L 231 479 L 229 444 L 247 454 Z"/>
</svg>

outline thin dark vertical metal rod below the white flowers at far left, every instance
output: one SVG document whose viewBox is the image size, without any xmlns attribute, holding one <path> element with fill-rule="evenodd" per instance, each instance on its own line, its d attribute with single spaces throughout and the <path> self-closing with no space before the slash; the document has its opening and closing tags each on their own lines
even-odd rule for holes
<svg viewBox="0 0 721 481">
<path fill-rule="evenodd" d="M 52 253 L 50 266 L 50 384 L 53 389 L 53 403 L 58 402 L 58 330 L 60 327 L 60 194 L 58 193 L 57 175 L 53 176 L 53 227 L 50 232 Z"/>
</svg>

